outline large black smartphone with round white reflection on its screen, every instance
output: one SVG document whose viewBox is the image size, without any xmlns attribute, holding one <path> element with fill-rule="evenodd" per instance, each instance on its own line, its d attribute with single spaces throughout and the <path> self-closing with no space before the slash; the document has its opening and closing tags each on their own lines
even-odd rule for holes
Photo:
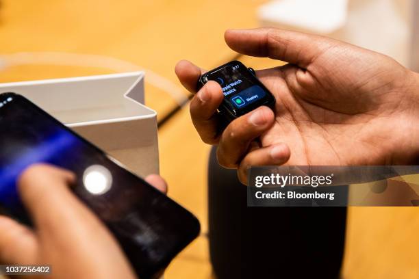
<svg viewBox="0 0 419 279">
<path fill-rule="evenodd" d="M 112 231 L 140 278 L 160 275 L 199 235 L 192 213 L 23 96 L 0 94 L 0 207 L 29 226 L 16 181 L 34 163 L 77 174 L 75 195 Z"/>
</svg>

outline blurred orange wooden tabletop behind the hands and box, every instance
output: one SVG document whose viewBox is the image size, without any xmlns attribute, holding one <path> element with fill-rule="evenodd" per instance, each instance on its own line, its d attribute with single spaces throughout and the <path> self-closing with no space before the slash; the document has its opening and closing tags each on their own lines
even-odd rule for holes
<svg viewBox="0 0 419 279">
<path fill-rule="evenodd" d="M 103 61 L 112 57 L 149 69 L 179 86 L 173 72 L 175 63 L 186 58 L 212 68 L 233 57 L 225 46 L 224 30 L 257 26 L 255 7 L 263 2 L 3 0 L 0 55 L 6 56 L 0 56 L 0 82 L 130 69 L 119 62 L 104 66 Z M 44 58 L 36 64 L 34 54 L 29 55 L 31 64 L 4 63 L 10 62 L 13 53 L 21 52 L 101 56 L 92 64 L 83 58 L 51 62 L 44 54 L 38 55 Z M 243 61 L 253 68 L 279 64 L 249 57 Z M 175 101 L 167 92 L 150 83 L 146 90 L 147 104 L 160 118 L 173 109 Z M 196 214 L 203 225 L 203 235 L 173 261 L 165 278 L 212 278 L 205 236 L 209 146 L 194 131 L 188 107 L 166 122 L 159 134 L 161 173 L 170 186 L 169 196 Z M 350 208 L 344 278 L 419 278 L 418 232 L 415 208 Z"/>
</svg>

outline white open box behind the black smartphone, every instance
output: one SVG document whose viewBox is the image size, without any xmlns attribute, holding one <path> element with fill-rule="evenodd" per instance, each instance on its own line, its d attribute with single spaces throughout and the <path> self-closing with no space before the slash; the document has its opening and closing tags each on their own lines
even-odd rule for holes
<svg viewBox="0 0 419 279">
<path fill-rule="evenodd" d="M 0 83 L 45 109 L 140 176 L 159 172 L 157 114 L 144 105 L 144 72 Z"/>
</svg>

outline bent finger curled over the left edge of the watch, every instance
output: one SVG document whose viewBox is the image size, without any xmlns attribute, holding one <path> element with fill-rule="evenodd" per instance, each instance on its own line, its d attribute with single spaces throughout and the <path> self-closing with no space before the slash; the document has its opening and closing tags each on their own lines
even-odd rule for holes
<svg viewBox="0 0 419 279">
<path fill-rule="evenodd" d="M 206 144 L 218 142 L 220 121 L 217 108 L 223 98 L 220 85 L 215 81 L 208 81 L 190 102 L 192 123 Z"/>
</svg>

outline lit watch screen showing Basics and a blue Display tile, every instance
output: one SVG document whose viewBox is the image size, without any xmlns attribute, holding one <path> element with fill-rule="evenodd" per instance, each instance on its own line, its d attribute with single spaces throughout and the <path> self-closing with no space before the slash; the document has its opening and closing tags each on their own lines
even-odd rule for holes
<svg viewBox="0 0 419 279">
<path fill-rule="evenodd" d="M 266 91 L 255 82 L 255 77 L 242 64 L 231 64 L 207 76 L 223 88 L 225 100 L 242 109 L 266 96 Z"/>
</svg>

